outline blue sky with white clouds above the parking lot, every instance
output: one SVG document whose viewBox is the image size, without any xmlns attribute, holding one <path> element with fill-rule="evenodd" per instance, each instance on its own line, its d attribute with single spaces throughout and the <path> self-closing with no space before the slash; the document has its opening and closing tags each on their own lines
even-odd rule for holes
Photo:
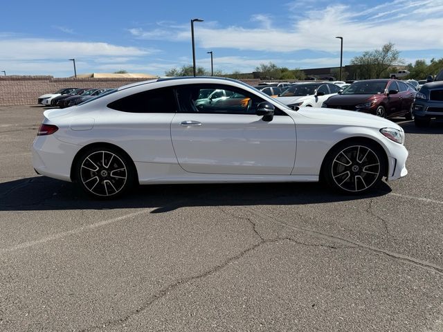
<svg viewBox="0 0 443 332">
<path fill-rule="evenodd" d="M 164 75 L 192 64 L 251 72 L 343 64 L 392 42 L 408 62 L 443 57 L 443 0 L 433 1 L 9 1 L 0 19 L 0 71 L 8 75 Z M 65 5 L 64 3 L 67 3 Z"/>
</svg>

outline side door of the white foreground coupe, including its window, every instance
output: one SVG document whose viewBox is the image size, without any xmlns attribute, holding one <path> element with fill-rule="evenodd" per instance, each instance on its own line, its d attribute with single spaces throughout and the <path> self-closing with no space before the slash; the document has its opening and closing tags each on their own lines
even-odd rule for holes
<svg viewBox="0 0 443 332">
<path fill-rule="evenodd" d="M 260 96 L 223 84 L 178 87 L 179 113 L 171 138 L 179 165 L 206 174 L 289 175 L 296 157 L 296 127 L 275 109 L 271 121 L 255 115 Z M 224 89 L 230 97 L 199 104 L 201 89 Z M 195 107 L 199 104 L 199 107 Z"/>
</svg>

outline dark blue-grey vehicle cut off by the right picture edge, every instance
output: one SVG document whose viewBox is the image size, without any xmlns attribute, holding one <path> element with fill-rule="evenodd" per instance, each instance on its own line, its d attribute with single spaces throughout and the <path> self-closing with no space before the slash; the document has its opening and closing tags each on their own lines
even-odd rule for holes
<svg viewBox="0 0 443 332">
<path fill-rule="evenodd" d="M 417 127 L 428 126 L 432 118 L 443 118 L 443 81 L 422 86 L 415 95 L 413 113 Z"/>
</svg>

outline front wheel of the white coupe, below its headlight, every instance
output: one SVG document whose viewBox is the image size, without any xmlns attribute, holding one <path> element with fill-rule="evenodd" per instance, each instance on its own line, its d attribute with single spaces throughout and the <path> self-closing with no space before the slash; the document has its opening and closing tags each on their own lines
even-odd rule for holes
<svg viewBox="0 0 443 332">
<path fill-rule="evenodd" d="M 333 190 L 364 194 L 381 183 L 386 162 L 378 145 L 364 140 L 343 142 L 325 158 L 322 175 Z"/>
</svg>

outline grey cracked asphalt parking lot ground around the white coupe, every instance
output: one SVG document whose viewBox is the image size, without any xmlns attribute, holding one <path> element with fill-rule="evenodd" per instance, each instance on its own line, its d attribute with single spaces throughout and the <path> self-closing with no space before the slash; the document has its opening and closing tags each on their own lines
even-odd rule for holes
<svg viewBox="0 0 443 332">
<path fill-rule="evenodd" d="M 153 185 L 91 201 L 38 176 L 43 107 L 0 107 L 0 331 L 443 331 L 443 122 L 408 176 Z"/>
</svg>

